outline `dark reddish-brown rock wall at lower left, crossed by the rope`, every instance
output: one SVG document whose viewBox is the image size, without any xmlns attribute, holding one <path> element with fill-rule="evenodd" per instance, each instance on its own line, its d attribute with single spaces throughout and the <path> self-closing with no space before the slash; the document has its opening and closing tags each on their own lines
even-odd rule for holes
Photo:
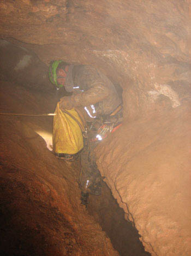
<svg viewBox="0 0 191 256">
<path fill-rule="evenodd" d="M 3 82 L 1 112 L 47 113 L 55 102 L 44 96 Z M 80 203 L 79 162 L 59 161 L 37 134 L 51 126 L 51 117 L 1 116 L 1 255 L 118 255 Z"/>
</svg>

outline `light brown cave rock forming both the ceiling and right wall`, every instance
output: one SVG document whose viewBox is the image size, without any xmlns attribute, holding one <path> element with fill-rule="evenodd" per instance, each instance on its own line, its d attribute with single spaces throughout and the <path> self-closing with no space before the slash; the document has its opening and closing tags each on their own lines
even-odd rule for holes
<svg viewBox="0 0 191 256">
<path fill-rule="evenodd" d="M 33 50 L 46 65 L 93 65 L 120 84 L 124 123 L 97 151 L 100 172 L 147 251 L 189 255 L 190 1 L 0 6 L 2 39 Z"/>
</svg>

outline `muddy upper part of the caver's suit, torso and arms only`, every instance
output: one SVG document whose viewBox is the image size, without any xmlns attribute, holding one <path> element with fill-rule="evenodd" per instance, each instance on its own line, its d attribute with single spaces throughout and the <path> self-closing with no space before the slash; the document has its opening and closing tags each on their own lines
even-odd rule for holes
<svg viewBox="0 0 191 256">
<path fill-rule="evenodd" d="M 94 105 L 96 115 L 93 115 L 91 108 L 89 112 L 92 116 L 100 116 L 110 115 L 122 103 L 114 84 L 91 66 L 70 65 L 64 87 L 68 92 L 75 93 L 61 99 L 61 109 Z"/>
</svg>

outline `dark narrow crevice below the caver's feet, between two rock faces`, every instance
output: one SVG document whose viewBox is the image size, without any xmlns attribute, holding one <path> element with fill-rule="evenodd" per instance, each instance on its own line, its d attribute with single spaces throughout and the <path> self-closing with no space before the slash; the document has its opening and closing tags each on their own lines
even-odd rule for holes
<svg viewBox="0 0 191 256">
<path fill-rule="evenodd" d="M 144 246 L 139 240 L 138 230 L 124 219 L 124 211 L 118 206 L 111 190 L 102 181 L 102 195 L 89 195 L 87 211 L 106 232 L 114 248 L 120 255 L 146 256 Z"/>
</svg>

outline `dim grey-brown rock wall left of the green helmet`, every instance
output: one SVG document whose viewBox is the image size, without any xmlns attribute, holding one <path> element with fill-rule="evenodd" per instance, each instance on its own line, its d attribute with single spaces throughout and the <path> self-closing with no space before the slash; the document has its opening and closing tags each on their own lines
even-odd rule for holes
<svg viewBox="0 0 191 256">
<path fill-rule="evenodd" d="M 0 39 L 1 79 L 32 90 L 53 90 L 47 66 L 31 50 Z"/>
</svg>

